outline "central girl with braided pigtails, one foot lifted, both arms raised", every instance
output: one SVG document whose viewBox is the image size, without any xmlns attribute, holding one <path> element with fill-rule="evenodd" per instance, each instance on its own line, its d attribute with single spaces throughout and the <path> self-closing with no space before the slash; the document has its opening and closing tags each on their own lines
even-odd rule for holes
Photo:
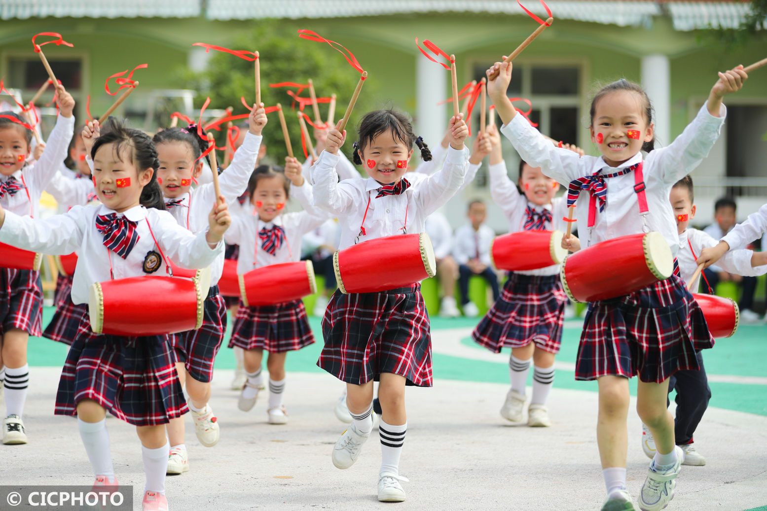
<svg viewBox="0 0 767 511">
<path fill-rule="evenodd" d="M 416 139 L 407 116 L 377 110 L 360 122 L 354 162 L 365 162 L 367 179 L 338 182 L 334 168 L 346 135 L 337 128 L 331 130 L 328 145 L 314 165 L 314 204 L 338 217 L 341 250 L 357 241 L 423 232 L 424 218 L 458 191 L 466 175 L 468 155 L 463 141 L 469 129 L 461 116 L 450 120 L 450 131 L 451 148 L 442 171 L 411 186 L 403 176 L 413 143 L 423 159 L 430 159 L 431 153 L 423 139 Z M 347 383 L 347 405 L 354 419 L 336 442 L 333 464 L 348 468 L 359 457 L 373 429 L 373 382 L 380 380 L 378 500 L 401 502 L 405 500 L 399 475 L 407 430 L 405 385 L 432 385 L 429 316 L 420 283 L 380 293 L 337 290 L 322 320 L 322 336 L 325 346 L 317 364 Z"/>
</svg>

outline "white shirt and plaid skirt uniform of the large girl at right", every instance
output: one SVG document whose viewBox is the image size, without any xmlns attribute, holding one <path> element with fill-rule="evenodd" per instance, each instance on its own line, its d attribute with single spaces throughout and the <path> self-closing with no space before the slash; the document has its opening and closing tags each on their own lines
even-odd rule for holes
<svg viewBox="0 0 767 511">
<path fill-rule="evenodd" d="M 553 146 L 522 116 L 515 116 L 501 131 L 525 162 L 541 166 L 545 175 L 569 187 L 568 195 L 578 206 L 575 215 L 584 247 L 657 231 L 676 255 L 679 236 L 669 193 L 700 165 L 719 138 L 724 106 L 720 114 L 711 116 L 703 105 L 669 146 L 651 151 L 644 162 L 639 152 L 617 168 L 611 168 L 601 156 L 579 157 Z M 637 170 L 643 173 L 644 182 L 637 182 Z M 644 212 L 640 207 L 643 196 Z M 609 264 L 604 261 L 604 267 Z M 700 369 L 696 352 L 713 343 L 700 306 L 681 278 L 672 275 L 634 293 L 589 304 L 575 378 L 639 375 L 643 382 L 663 382 L 676 371 Z"/>
</svg>

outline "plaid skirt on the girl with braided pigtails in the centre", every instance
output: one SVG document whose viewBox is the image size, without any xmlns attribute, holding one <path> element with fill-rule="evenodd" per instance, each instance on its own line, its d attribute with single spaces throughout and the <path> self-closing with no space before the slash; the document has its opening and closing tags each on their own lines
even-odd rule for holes
<svg viewBox="0 0 767 511">
<path fill-rule="evenodd" d="M 343 382 L 360 385 L 390 372 L 407 385 L 431 387 L 429 314 L 420 283 L 380 293 L 336 290 L 322 319 L 317 361 Z"/>
</svg>

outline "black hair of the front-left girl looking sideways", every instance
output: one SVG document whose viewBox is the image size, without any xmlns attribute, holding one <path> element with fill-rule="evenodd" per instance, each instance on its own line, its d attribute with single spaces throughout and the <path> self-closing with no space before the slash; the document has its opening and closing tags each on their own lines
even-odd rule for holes
<svg viewBox="0 0 767 511">
<path fill-rule="evenodd" d="M 160 160 L 157 159 L 157 149 L 149 135 L 140 129 L 127 128 L 123 123 L 110 117 L 107 121 L 107 133 L 102 133 L 94 141 L 91 149 L 91 158 L 96 159 L 96 152 L 104 144 L 114 143 L 114 152 L 119 159 L 120 149 L 123 145 L 133 149 L 129 152 L 130 163 L 136 166 L 139 172 L 144 169 L 153 169 L 152 179 L 141 190 L 139 202 L 145 208 L 165 209 L 163 191 L 157 183 L 157 169 L 160 168 Z"/>
</svg>

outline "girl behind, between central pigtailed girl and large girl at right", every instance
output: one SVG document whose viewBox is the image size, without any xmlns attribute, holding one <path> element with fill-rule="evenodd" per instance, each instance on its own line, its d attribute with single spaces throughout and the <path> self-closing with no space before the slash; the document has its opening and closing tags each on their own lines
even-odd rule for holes
<svg viewBox="0 0 767 511">
<path fill-rule="evenodd" d="M 509 219 L 509 232 L 567 229 L 562 218 L 567 216 L 565 198 L 554 198 L 559 184 L 547 178 L 540 168 L 519 163 L 519 188 L 509 179 L 501 152 L 501 137 L 495 126 L 488 136 L 490 153 L 490 192 L 495 204 Z M 509 375 L 512 388 L 506 395 L 501 416 L 512 422 L 522 421 L 525 408 L 525 384 L 530 359 L 535 363 L 532 398 L 528 408 L 528 426 L 548 427 L 546 399 L 554 385 L 554 358 L 559 352 L 565 321 L 567 295 L 559 279 L 559 265 L 538 270 L 511 271 L 497 300 L 472 338 L 480 346 L 499 353 L 510 346 Z"/>
</svg>

